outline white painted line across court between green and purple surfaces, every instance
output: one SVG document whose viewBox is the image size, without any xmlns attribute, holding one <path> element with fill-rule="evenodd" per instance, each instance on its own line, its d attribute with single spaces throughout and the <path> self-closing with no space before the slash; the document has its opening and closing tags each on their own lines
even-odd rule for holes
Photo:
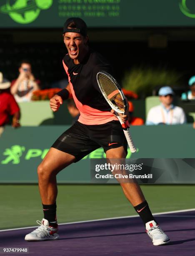
<svg viewBox="0 0 195 256">
<path fill-rule="evenodd" d="M 153 213 L 153 215 L 161 215 L 161 214 L 169 214 L 169 213 L 177 213 L 177 212 L 190 212 L 195 211 L 195 208 L 193 209 L 186 209 L 186 210 L 177 210 L 177 211 L 170 211 L 170 212 L 156 212 Z M 179 216 L 179 215 L 176 215 Z M 122 216 L 122 217 L 113 217 L 113 218 L 105 218 L 105 219 L 96 219 L 96 220 L 82 220 L 82 221 L 75 221 L 75 222 L 66 222 L 66 223 L 60 223 L 58 225 L 69 225 L 69 224 L 77 224 L 77 223 L 87 223 L 87 222 L 93 222 L 93 221 L 101 221 L 101 220 L 117 220 L 117 219 L 124 219 L 124 218 L 135 218 L 139 217 L 139 215 L 130 215 L 130 216 Z M 162 216 L 167 217 L 167 216 Z M 182 217 L 182 216 L 180 216 Z M 189 216 L 188 216 L 189 217 Z M 194 216 L 193 216 L 194 217 Z M 37 228 L 37 226 L 31 226 L 31 227 L 25 227 L 25 228 L 10 228 L 10 229 L 2 229 L 0 232 L 3 231 L 12 231 L 12 230 L 20 230 L 20 229 L 27 229 L 27 228 Z"/>
</svg>

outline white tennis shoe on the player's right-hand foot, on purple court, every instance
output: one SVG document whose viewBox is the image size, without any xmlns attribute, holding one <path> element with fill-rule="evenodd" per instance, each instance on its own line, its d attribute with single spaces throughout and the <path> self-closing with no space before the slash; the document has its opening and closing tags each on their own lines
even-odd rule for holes
<svg viewBox="0 0 195 256">
<path fill-rule="evenodd" d="M 170 238 L 154 220 L 147 222 L 145 228 L 148 236 L 150 236 L 153 241 L 153 245 L 158 246 L 170 242 Z"/>
</svg>

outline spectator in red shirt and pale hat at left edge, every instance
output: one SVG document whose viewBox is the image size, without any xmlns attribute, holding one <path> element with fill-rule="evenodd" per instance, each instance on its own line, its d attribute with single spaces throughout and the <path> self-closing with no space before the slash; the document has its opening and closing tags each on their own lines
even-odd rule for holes
<svg viewBox="0 0 195 256">
<path fill-rule="evenodd" d="M 4 125 L 9 122 L 9 115 L 13 115 L 12 126 L 20 127 L 20 108 L 10 93 L 10 82 L 3 79 L 0 72 L 0 136 Z"/>
</svg>

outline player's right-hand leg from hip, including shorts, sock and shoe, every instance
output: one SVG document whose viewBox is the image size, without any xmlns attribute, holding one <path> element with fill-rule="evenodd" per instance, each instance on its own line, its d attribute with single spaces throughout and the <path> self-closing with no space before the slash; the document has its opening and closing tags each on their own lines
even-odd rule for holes
<svg viewBox="0 0 195 256">
<path fill-rule="evenodd" d="M 106 157 L 110 162 L 113 159 L 113 164 L 115 164 L 115 160 L 117 159 L 118 163 L 120 163 L 120 161 L 122 163 L 127 154 L 127 141 L 120 123 L 118 121 L 111 121 L 105 123 L 104 125 L 97 126 L 98 128 L 96 128 L 96 131 L 92 131 L 95 141 L 97 141 L 104 148 Z M 114 171 L 118 172 L 118 170 Z M 122 170 L 123 174 L 125 172 L 125 170 Z M 118 181 L 121 184 L 125 196 L 131 202 L 136 212 L 143 220 L 143 223 L 148 231 L 148 235 L 153 240 L 153 244 L 160 245 L 168 243 L 170 239 L 156 223 L 139 184 L 133 179 L 130 179 L 127 182 L 120 178 Z"/>
</svg>

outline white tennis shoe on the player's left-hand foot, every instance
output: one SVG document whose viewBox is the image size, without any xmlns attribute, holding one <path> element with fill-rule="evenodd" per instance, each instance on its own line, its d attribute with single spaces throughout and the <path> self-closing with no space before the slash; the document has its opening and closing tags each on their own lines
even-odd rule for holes
<svg viewBox="0 0 195 256">
<path fill-rule="evenodd" d="M 45 240 L 56 240 L 59 239 L 59 235 L 57 234 L 57 228 L 53 228 L 49 225 L 49 221 L 42 219 L 37 220 L 37 224 L 40 227 L 33 230 L 31 233 L 25 236 L 25 241 L 45 241 Z"/>
</svg>

